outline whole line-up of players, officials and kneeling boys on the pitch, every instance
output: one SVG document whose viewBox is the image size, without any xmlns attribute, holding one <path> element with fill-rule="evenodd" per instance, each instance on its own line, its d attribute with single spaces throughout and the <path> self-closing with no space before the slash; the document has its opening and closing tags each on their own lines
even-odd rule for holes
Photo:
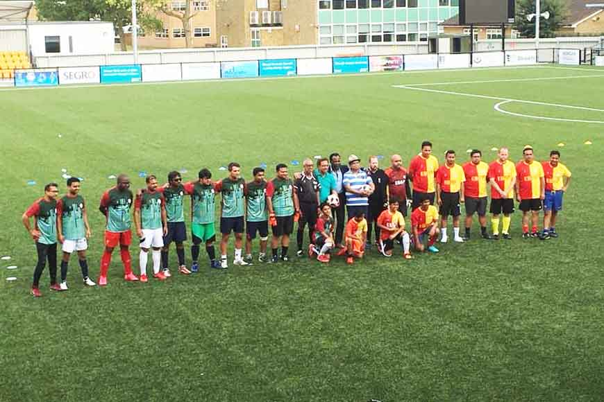
<svg viewBox="0 0 604 402">
<path fill-rule="evenodd" d="M 470 160 L 463 166 L 456 164 L 453 150 L 446 152 L 442 166 L 431 154 L 432 144 L 424 141 L 421 153 L 410 161 L 408 169 L 403 167 L 400 155 L 392 155 L 391 166 L 384 171 L 378 167 L 378 157 L 370 157 L 369 166 L 361 168 L 356 155 L 350 155 L 348 166 L 344 166 L 340 155 L 333 153 L 329 159 L 318 159 L 316 168 L 311 159 L 305 159 L 303 171 L 295 173 L 293 179 L 285 164 L 276 166 L 276 175 L 270 180 L 265 177 L 264 168 L 254 168 L 251 182 L 245 182 L 240 165 L 232 162 L 228 165 L 228 176 L 222 180 L 213 181 L 212 173 L 203 168 L 198 180 L 183 183 L 181 174 L 172 171 L 163 185 L 158 184 L 156 176 L 147 176 L 146 188 L 136 194 L 130 189 L 128 176 L 119 175 L 117 185 L 103 193 L 99 206 L 106 216 L 106 230 L 98 284 L 107 284 L 111 256 L 118 246 L 126 281 L 149 281 L 146 275 L 149 252 L 153 277 L 160 281 L 170 277 L 168 252 L 172 242 L 176 244 L 181 274 L 199 271 L 202 243 L 210 267 L 226 269 L 231 233 L 235 236 L 235 265 L 253 263 L 252 242 L 256 236 L 260 238 L 259 262 L 288 261 L 294 222 L 298 224 L 296 254 L 304 256 L 308 252 L 310 257 L 316 256 L 323 263 L 330 261 L 332 252 L 346 256 L 349 264 L 362 258 L 371 247 L 372 232 L 384 256 L 392 256 L 396 245 L 401 245 L 405 259 L 412 259 L 412 247 L 419 252 L 439 252 L 435 243 L 439 234 L 441 243 L 448 241 L 448 216 L 453 218 L 454 242 L 470 239 L 475 214 L 482 238 L 498 240 L 501 219 L 501 237 L 510 239 L 514 198 L 523 212 L 523 238 L 557 237 L 555 220 L 571 180 L 571 172 L 560 163 L 560 152 L 551 151 L 548 161 L 538 162 L 534 161 L 532 148 L 525 146 L 523 159 L 514 164 L 508 160 L 507 148 L 501 148 L 497 159 L 486 164 L 480 150 L 472 150 Z M 489 184 L 492 234 L 487 233 Z M 86 250 L 91 231 L 87 207 L 79 194 L 80 186 L 77 177 L 70 177 L 67 194 L 58 198 L 58 184 L 47 184 L 44 197 L 33 202 L 22 216 L 37 249 L 31 288 L 35 297 L 41 296 L 38 284 L 47 261 L 51 290 L 68 289 L 67 268 L 73 252 L 78 254 L 85 285 L 97 284 L 88 273 Z M 214 246 L 217 195 L 221 195 L 219 259 Z M 191 270 L 185 265 L 186 196 L 191 198 Z M 466 213 L 464 236 L 460 235 L 461 204 L 465 205 Z M 132 207 L 134 213 L 131 213 Z M 405 227 L 409 207 L 412 211 L 410 232 Z M 539 231 L 542 209 L 544 227 Z M 140 276 L 134 274 L 131 267 L 129 248 L 133 221 L 140 239 Z M 303 247 L 306 226 L 310 237 L 308 249 Z M 271 256 L 267 256 L 269 227 L 272 229 Z M 56 281 L 57 242 L 62 244 L 60 283 Z"/>
</svg>

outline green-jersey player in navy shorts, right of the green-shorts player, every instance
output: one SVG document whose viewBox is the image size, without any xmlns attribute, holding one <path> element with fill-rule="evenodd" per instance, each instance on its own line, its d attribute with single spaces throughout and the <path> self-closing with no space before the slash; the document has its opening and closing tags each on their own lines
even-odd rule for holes
<svg viewBox="0 0 604 402">
<path fill-rule="evenodd" d="M 228 164 L 228 177 L 216 183 L 216 192 L 221 193 L 220 202 L 220 254 L 221 267 L 228 268 L 226 263 L 226 246 L 230 232 L 235 232 L 235 265 L 248 265 L 242 258 L 244 214 L 245 214 L 245 180 L 241 175 L 241 166 L 237 162 Z"/>
</svg>

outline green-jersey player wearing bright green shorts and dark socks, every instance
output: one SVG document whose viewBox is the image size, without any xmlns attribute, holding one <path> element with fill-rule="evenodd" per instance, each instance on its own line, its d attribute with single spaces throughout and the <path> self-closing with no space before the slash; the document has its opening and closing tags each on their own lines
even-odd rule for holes
<svg viewBox="0 0 604 402">
<path fill-rule="evenodd" d="M 216 229 L 214 221 L 216 219 L 216 189 L 212 183 L 212 172 L 203 168 L 199 171 L 199 180 L 189 182 L 184 185 L 187 194 L 191 194 L 191 233 L 193 245 L 191 246 L 191 256 L 193 263 L 191 270 L 199 271 L 199 245 L 205 242 L 205 252 L 210 258 L 210 268 L 221 269 L 221 264 L 216 261 L 216 250 L 214 242 L 216 241 Z"/>
</svg>

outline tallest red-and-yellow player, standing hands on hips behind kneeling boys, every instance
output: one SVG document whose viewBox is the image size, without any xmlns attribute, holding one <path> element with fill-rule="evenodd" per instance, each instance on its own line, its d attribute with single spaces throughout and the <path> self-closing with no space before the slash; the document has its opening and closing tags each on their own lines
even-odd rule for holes
<svg viewBox="0 0 604 402">
<path fill-rule="evenodd" d="M 413 201 L 411 209 L 416 209 L 423 200 L 430 200 L 434 204 L 436 192 L 436 172 L 438 159 L 432 154 L 432 143 L 423 141 L 421 153 L 411 159 L 408 170 L 408 179 L 413 184 Z"/>
</svg>

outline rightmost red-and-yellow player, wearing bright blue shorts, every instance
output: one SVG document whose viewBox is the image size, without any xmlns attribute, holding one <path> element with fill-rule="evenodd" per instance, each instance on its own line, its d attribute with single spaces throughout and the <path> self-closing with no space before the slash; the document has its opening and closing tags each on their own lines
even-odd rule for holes
<svg viewBox="0 0 604 402">
<path fill-rule="evenodd" d="M 571 184 L 571 171 L 560 163 L 560 152 L 549 152 L 549 161 L 542 162 L 545 175 L 545 200 L 543 203 L 543 238 L 557 237 L 556 216 L 562 209 L 562 195 Z M 566 180 L 564 180 L 566 179 Z"/>
</svg>

